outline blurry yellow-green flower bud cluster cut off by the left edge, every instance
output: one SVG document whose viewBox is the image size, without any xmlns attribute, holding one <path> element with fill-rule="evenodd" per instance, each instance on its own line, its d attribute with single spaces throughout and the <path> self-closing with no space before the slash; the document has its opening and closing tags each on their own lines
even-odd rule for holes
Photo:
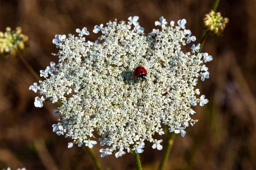
<svg viewBox="0 0 256 170">
<path fill-rule="evenodd" d="M 21 32 L 21 27 L 16 30 L 6 27 L 6 32 L 0 32 L 0 57 L 15 57 L 18 51 L 25 49 L 28 37 Z"/>
</svg>

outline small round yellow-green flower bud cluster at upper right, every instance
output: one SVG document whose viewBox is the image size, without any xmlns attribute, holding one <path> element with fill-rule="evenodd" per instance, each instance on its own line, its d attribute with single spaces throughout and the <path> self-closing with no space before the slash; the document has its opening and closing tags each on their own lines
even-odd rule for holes
<svg viewBox="0 0 256 170">
<path fill-rule="evenodd" d="M 202 20 L 202 27 L 207 31 L 210 31 L 212 35 L 220 36 L 226 28 L 229 19 L 222 17 L 220 12 L 215 13 L 211 10 L 208 14 L 204 15 Z"/>
</svg>

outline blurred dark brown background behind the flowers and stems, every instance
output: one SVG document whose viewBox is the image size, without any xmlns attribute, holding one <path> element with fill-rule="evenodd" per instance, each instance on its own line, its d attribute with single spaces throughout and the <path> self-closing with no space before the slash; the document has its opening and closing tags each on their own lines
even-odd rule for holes
<svg viewBox="0 0 256 170">
<path fill-rule="evenodd" d="M 0 31 L 6 26 L 23 28 L 29 36 L 24 57 L 39 73 L 57 57 L 55 34 L 76 34 L 76 28 L 109 20 L 139 16 L 148 32 L 154 21 L 164 16 L 168 22 L 186 18 L 186 28 L 199 43 L 199 22 L 214 0 L 0 0 Z M 186 136 L 177 135 L 166 170 L 253 170 L 256 169 L 256 1 L 221 0 L 217 11 L 230 18 L 223 37 L 208 37 L 203 52 L 213 56 L 210 79 L 198 84 L 209 103 L 196 106 L 192 116 L 199 119 Z M 192 45 L 189 44 L 187 48 Z M 26 167 L 27 170 L 94 169 L 83 147 L 68 149 L 71 139 L 52 132 L 57 105 L 47 102 L 34 107 L 29 86 L 36 79 L 19 59 L 0 60 L 0 169 Z M 164 136 L 163 136 L 164 139 Z M 165 140 L 164 140 L 165 142 Z M 163 142 L 163 145 L 165 144 Z M 100 158 L 100 146 L 93 151 L 107 170 L 134 169 L 134 159 L 126 154 Z M 156 169 L 163 150 L 146 143 L 140 154 L 144 170 Z"/>
</svg>

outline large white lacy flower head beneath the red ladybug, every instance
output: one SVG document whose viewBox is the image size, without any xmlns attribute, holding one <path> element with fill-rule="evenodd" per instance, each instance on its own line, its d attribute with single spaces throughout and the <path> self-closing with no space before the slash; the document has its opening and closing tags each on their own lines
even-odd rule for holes
<svg viewBox="0 0 256 170">
<path fill-rule="evenodd" d="M 40 71 L 46 78 L 40 85 L 29 87 L 39 91 L 35 106 L 42 107 L 46 99 L 62 105 L 54 111 L 58 124 L 52 125 L 58 135 L 73 139 L 73 144 L 92 148 L 97 144 L 93 134 L 98 134 L 102 157 L 115 153 L 116 157 L 131 150 L 143 153 L 145 141 L 152 148 L 162 149 L 163 140 L 154 134 L 164 134 L 161 125 L 169 132 L 185 135 L 185 128 L 194 125 L 190 114 L 192 106 L 207 104 L 205 96 L 194 89 L 198 77 L 209 78 L 204 63 L 212 60 L 207 53 L 181 51 L 181 45 L 195 41 L 191 31 L 185 29 L 186 20 L 172 21 L 160 17 L 155 22 L 160 29 L 149 34 L 137 22 L 139 17 L 129 17 L 128 23 L 108 22 L 95 26 L 93 32 L 102 34 L 96 42 L 86 41 L 86 28 L 76 29 L 79 37 L 56 35 L 53 43 L 59 48 L 59 63 L 51 62 Z M 134 68 L 146 68 L 147 81 L 134 76 Z M 49 74 L 51 76 L 49 76 Z"/>
</svg>

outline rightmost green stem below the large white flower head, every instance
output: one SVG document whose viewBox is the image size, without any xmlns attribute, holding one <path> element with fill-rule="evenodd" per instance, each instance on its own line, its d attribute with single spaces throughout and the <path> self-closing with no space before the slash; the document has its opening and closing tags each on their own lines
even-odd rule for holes
<svg viewBox="0 0 256 170">
<path fill-rule="evenodd" d="M 171 134 L 167 134 L 167 145 L 166 145 L 166 149 L 163 153 L 163 157 L 162 157 L 162 160 L 159 164 L 159 167 L 158 167 L 158 170 L 163 170 L 165 164 L 166 164 L 166 161 L 169 157 L 169 154 L 170 154 L 170 151 L 172 149 L 172 144 L 173 144 L 173 141 L 174 141 L 174 138 L 175 138 L 175 133 L 171 133 Z"/>
</svg>

